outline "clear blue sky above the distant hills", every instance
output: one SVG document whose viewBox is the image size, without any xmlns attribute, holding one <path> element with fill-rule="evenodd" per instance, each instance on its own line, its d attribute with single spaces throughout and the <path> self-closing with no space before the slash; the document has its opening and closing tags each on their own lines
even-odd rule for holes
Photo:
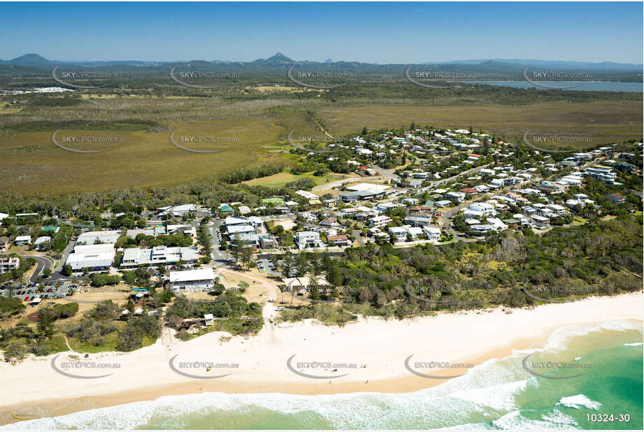
<svg viewBox="0 0 644 432">
<path fill-rule="evenodd" d="M 642 2 L 0 3 L 0 59 L 643 63 Z"/>
</svg>

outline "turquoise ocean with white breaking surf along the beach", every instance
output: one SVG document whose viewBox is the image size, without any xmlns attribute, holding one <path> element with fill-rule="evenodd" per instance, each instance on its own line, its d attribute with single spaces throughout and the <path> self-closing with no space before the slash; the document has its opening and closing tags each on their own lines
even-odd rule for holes
<svg viewBox="0 0 644 432">
<path fill-rule="evenodd" d="M 568 327 L 541 349 L 517 350 L 413 393 L 162 396 L 0 429 L 641 430 L 642 341 L 636 322 Z"/>
</svg>

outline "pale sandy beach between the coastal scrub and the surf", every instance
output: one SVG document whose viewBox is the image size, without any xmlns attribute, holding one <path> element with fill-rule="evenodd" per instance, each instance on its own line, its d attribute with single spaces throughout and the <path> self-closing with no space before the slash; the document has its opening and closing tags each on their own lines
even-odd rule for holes
<svg viewBox="0 0 644 432">
<path fill-rule="evenodd" d="M 441 313 L 401 321 L 360 319 L 343 327 L 315 320 L 268 324 L 249 338 L 208 333 L 187 342 L 164 329 L 154 345 L 135 352 L 90 354 L 87 359 L 76 354 L 94 365 L 90 367 L 65 367 L 62 362 L 69 361 L 73 352 L 27 359 L 15 366 L 0 363 L 0 423 L 11 422 L 11 412 L 33 412 L 36 407 L 47 415 L 62 415 L 200 391 L 416 391 L 447 378 L 422 377 L 413 370 L 438 377 L 459 375 L 513 350 L 543 347 L 562 327 L 574 333 L 578 326 L 615 320 L 641 323 L 643 306 L 642 293 L 622 294 L 532 309 Z M 435 363 L 421 368 L 419 362 Z M 445 362 L 464 365 L 441 367 Z M 210 363 L 213 367 L 206 370 Z M 107 376 L 96 377 L 100 375 Z"/>
</svg>

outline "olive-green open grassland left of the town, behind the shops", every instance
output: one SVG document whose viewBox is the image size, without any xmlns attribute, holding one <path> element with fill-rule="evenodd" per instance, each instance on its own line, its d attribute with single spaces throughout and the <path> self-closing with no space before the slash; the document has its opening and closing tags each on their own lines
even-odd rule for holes
<svg viewBox="0 0 644 432">
<path fill-rule="evenodd" d="M 271 158 L 262 147 L 278 140 L 282 128 L 258 120 L 215 120 L 171 124 L 174 140 L 193 150 L 223 150 L 194 153 L 180 150 L 169 140 L 171 131 L 79 131 L 62 130 L 62 136 L 117 136 L 119 143 L 64 143 L 76 153 L 52 143 L 52 132 L 16 133 L 0 138 L 3 157 L 0 182 L 16 192 L 62 193 L 131 186 L 171 185 L 195 178 L 252 166 Z M 189 143 L 180 138 L 214 137 L 224 142 Z"/>
</svg>

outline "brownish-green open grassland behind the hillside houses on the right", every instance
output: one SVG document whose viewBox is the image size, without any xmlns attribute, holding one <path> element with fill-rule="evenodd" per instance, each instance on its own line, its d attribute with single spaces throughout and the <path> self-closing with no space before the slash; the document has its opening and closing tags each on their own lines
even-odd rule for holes
<svg viewBox="0 0 644 432">
<path fill-rule="evenodd" d="M 594 147 L 642 137 L 641 101 L 587 103 L 547 102 L 527 106 L 356 106 L 323 108 L 318 112 L 340 134 L 368 129 L 417 125 L 487 130 L 518 143 L 531 134 L 588 134 Z M 553 147 L 554 148 L 554 147 Z M 580 149 L 581 150 L 581 149 Z"/>
</svg>

